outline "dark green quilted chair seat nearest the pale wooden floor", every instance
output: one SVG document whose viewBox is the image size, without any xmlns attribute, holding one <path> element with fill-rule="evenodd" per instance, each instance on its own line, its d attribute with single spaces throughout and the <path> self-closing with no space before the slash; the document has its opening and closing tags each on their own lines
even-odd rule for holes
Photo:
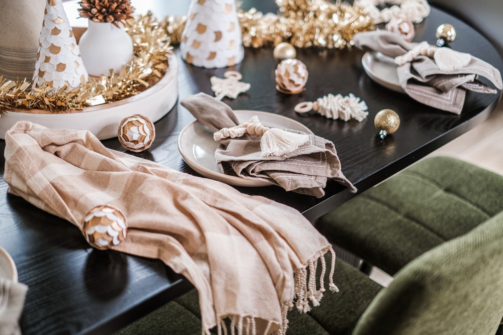
<svg viewBox="0 0 503 335">
<path fill-rule="evenodd" d="M 449 157 L 424 159 L 320 217 L 333 244 L 394 275 L 503 210 L 503 176 Z"/>
</svg>

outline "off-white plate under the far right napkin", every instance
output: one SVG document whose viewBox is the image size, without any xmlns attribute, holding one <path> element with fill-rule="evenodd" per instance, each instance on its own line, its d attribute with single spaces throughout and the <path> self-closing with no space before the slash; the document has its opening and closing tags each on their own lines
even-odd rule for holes
<svg viewBox="0 0 503 335">
<path fill-rule="evenodd" d="M 398 82 L 396 64 L 393 58 L 380 52 L 366 52 L 362 57 L 363 69 L 379 85 L 395 92 L 405 93 Z"/>
</svg>

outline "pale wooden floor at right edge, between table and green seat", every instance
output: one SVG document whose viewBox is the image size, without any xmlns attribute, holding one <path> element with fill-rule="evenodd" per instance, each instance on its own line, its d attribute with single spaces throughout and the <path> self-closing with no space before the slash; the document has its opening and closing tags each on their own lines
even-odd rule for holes
<svg viewBox="0 0 503 335">
<path fill-rule="evenodd" d="M 456 157 L 503 175 L 503 101 L 483 123 L 433 155 Z"/>
</svg>

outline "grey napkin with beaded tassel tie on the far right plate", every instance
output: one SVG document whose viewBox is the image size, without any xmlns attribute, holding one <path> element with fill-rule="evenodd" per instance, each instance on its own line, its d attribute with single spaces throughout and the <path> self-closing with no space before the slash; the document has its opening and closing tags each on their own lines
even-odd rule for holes
<svg viewBox="0 0 503 335">
<path fill-rule="evenodd" d="M 410 97 L 454 114 L 461 114 L 466 90 L 497 92 L 478 76 L 487 78 L 498 89 L 503 87 L 495 67 L 467 53 L 426 42 L 408 43 L 385 30 L 355 34 L 353 41 L 360 49 L 394 58 L 399 84 Z"/>
</svg>

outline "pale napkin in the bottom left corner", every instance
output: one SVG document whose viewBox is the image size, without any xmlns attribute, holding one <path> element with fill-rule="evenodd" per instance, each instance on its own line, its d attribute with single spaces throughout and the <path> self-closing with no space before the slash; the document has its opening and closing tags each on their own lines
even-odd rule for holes
<svg viewBox="0 0 503 335">
<path fill-rule="evenodd" d="M 0 334 L 20 335 L 19 318 L 28 286 L 0 278 Z"/>
</svg>

